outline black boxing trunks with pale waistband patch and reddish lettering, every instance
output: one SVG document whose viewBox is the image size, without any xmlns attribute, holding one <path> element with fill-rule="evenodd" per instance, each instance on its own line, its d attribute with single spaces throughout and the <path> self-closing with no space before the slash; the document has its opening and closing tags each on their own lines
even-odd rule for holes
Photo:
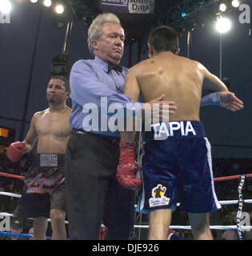
<svg viewBox="0 0 252 256">
<path fill-rule="evenodd" d="M 64 157 L 65 154 L 34 154 L 15 216 L 49 218 L 50 209 L 66 211 Z"/>
</svg>

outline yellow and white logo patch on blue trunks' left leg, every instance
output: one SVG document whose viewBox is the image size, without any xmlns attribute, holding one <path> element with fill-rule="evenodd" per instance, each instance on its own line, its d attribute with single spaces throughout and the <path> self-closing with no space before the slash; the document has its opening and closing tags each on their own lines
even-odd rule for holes
<svg viewBox="0 0 252 256">
<path fill-rule="evenodd" d="M 152 190 L 152 198 L 149 200 L 150 207 L 154 206 L 167 206 L 169 205 L 170 198 L 166 198 L 166 187 L 158 184 Z"/>
</svg>

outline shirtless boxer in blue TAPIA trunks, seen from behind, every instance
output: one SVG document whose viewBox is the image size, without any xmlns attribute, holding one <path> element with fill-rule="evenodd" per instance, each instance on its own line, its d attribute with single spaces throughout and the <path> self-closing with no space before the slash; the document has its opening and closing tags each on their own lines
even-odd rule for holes
<svg viewBox="0 0 252 256">
<path fill-rule="evenodd" d="M 209 213 L 220 205 L 214 192 L 210 143 L 199 119 L 203 80 L 210 81 L 206 90 L 219 91 L 221 97 L 232 94 L 230 104 L 235 110 L 242 109 L 243 103 L 201 63 L 178 56 L 178 34 L 170 27 L 152 30 L 148 46 L 150 58 L 128 71 L 124 93 L 134 102 L 139 94 L 145 102 L 165 94 L 166 100 L 176 102 L 178 110 L 169 122 L 152 122 L 144 133 L 142 193 L 137 210 L 149 213 L 149 239 L 167 239 L 178 194 L 181 209 L 189 214 L 194 239 L 211 240 Z M 129 173 L 130 168 L 135 173 L 134 140 L 135 132 L 121 133 L 118 177 L 128 184 L 129 176 L 122 173 Z M 122 147 L 126 154 L 121 154 Z"/>
</svg>

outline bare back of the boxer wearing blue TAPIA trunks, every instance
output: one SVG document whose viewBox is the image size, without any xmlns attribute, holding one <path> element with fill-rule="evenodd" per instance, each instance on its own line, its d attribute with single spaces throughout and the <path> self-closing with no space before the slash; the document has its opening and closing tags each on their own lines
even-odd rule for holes
<svg viewBox="0 0 252 256">
<path fill-rule="evenodd" d="M 163 52 L 140 62 L 133 72 L 145 102 L 161 94 L 165 94 L 164 100 L 176 102 L 178 110 L 170 115 L 170 121 L 199 121 L 204 78 L 200 63 Z"/>
</svg>

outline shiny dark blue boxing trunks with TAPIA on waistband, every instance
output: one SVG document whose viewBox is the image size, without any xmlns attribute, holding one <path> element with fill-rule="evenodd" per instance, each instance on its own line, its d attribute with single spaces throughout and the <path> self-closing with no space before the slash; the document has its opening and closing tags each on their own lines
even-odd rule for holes
<svg viewBox="0 0 252 256">
<path fill-rule="evenodd" d="M 152 125 L 144 135 L 142 191 L 137 211 L 171 209 L 207 213 L 221 208 L 214 192 L 210 142 L 201 122 Z"/>
</svg>

